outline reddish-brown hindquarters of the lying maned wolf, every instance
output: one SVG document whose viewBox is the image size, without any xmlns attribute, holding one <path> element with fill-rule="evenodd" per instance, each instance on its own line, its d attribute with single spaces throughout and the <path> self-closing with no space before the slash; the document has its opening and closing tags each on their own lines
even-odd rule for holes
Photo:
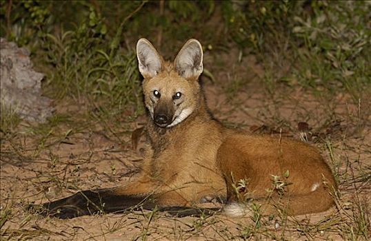
<svg viewBox="0 0 371 241">
<path fill-rule="evenodd" d="M 274 175 L 290 183 L 280 200 L 290 215 L 325 211 L 334 204 L 330 196 L 336 188 L 332 172 L 319 151 L 305 143 L 269 136 L 232 135 L 219 148 L 218 165 L 227 180 L 231 200 L 237 198 L 233 182 L 241 179 L 248 181 L 245 192 L 249 192 L 249 197 L 266 198 Z M 284 177 L 286 171 L 288 178 Z M 312 191 L 315 183 L 318 187 Z M 273 202 L 279 199 L 277 195 L 273 197 Z"/>
</svg>

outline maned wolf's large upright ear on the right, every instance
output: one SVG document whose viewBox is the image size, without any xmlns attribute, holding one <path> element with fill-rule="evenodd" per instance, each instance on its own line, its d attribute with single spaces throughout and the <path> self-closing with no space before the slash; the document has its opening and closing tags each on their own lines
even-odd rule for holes
<svg viewBox="0 0 371 241">
<path fill-rule="evenodd" d="M 202 46 L 196 39 L 190 39 L 183 45 L 174 60 L 174 66 L 180 76 L 197 79 L 203 71 Z"/>
</svg>

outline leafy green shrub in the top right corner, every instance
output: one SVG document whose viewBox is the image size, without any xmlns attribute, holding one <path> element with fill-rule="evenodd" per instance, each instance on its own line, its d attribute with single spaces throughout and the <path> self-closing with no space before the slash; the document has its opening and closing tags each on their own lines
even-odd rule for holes
<svg viewBox="0 0 371 241">
<path fill-rule="evenodd" d="M 371 84 L 371 43 L 368 25 L 370 7 L 362 2 L 342 1 L 332 5 L 326 1 L 312 3 L 314 16 L 294 17 L 292 29 L 305 44 L 298 50 L 299 64 L 294 76 L 302 85 L 348 90 L 356 100 L 363 88 Z M 357 17 L 350 17 L 357 16 Z"/>
</svg>

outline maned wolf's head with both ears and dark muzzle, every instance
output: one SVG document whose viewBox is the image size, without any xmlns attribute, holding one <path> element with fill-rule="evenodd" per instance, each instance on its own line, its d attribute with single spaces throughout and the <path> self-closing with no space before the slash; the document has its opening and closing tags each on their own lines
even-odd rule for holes
<svg viewBox="0 0 371 241">
<path fill-rule="evenodd" d="M 173 127 L 184 121 L 201 98 L 198 78 L 203 71 L 203 53 L 199 41 L 188 40 L 170 63 L 163 61 L 150 41 L 139 39 L 137 57 L 146 107 L 154 123 Z"/>
</svg>

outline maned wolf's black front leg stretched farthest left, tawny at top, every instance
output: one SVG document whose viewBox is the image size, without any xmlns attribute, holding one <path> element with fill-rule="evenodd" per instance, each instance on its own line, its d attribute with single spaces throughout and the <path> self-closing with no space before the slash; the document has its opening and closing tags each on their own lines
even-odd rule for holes
<svg viewBox="0 0 371 241">
<path fill-rule="evenodd" d="M 125 211 L 139 205 L 152 209 L 153 195 L 159 191 L 156 182 L 142 176 L 122 187 L 79 191 L 54 202 L 32 205 L 32 208 L 41 209 L 44 216 L 57 218 Z"/>
</svg>

